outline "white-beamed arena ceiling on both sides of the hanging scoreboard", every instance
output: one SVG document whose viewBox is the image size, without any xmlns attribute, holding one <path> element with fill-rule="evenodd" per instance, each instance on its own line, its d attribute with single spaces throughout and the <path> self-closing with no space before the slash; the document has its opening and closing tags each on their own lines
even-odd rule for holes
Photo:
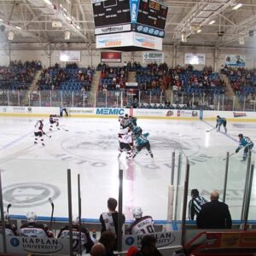
<svg viewBox="0 0 256 256">
<path fill-rule="evenodd" d="M 254 48 L 256 44 L 256 0 L 162 2 L 169 7 L 166 45 Z M 241 8 L 234 9 L 238 3 Z M 90 0 L 0 0 L 0 25 L 0 40 L 6 43 L 95 43 Z M 67 31 L 69 40 L 64 39 Z"/>
</svg>

